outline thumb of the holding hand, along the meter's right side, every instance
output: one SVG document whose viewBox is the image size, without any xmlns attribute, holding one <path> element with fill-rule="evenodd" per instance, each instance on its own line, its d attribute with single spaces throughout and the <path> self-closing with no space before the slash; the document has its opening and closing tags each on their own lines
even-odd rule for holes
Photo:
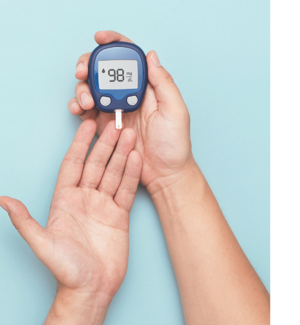
<svg viewBox="0 0 300 325">
<path fill-rule="evenodd" d="M 147 54 L 148 80 L 153 86 L 161 114 L 185 114 L 187 107 L 172 76 L 161 66 L 156 51 Z M 178 117 L 178 116 L 177 116 Z"/>
</svg>

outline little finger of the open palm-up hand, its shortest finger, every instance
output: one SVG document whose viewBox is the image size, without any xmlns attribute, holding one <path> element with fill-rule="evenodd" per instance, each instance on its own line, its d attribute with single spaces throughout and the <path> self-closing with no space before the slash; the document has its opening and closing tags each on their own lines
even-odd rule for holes
<svg viewBox="0 0 300 325">
<path fill-rule="evenodd" d="M 142 160 L 138 151 L 129 153 L 120 186 L 114 196 L 115 203 L 130 212 L 141 173 Z"/>
</svg>

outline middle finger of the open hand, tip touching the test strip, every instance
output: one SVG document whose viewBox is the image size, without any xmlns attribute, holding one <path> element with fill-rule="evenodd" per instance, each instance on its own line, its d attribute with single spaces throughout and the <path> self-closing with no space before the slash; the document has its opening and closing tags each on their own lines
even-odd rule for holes
<svg viewBox="0 0 300 325">
<path fill-rule="evenodd" d="M 98 187 L 120 133 L 121 129 L 115 128 L 114 120 L 108 122 L 85 161 L 79 187 Z"/>
</svg>

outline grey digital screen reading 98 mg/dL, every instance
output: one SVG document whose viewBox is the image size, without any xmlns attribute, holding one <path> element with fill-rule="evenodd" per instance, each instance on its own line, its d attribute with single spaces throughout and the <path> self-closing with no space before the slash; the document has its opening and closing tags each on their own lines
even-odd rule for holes
<svg viewBox="0 0 300 325">
<path fill-rule="evenodd" d="M 137 60 L 98 61 L 99 89 L 137 89 Z"/>
</svg>

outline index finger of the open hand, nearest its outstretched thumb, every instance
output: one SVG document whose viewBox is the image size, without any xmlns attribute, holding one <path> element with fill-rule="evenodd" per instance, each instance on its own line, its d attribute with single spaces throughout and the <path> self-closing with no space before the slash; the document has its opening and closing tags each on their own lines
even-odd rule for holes
<svg viewBox="0 0 300 325">
<path fill-rule="evenodd" d="M 95 135 L 97 123 L 86 119 L 79 126 L 74 140 L 60 166 L 56 188 L 77 186 L 90 143 Z"/>
</svg>

